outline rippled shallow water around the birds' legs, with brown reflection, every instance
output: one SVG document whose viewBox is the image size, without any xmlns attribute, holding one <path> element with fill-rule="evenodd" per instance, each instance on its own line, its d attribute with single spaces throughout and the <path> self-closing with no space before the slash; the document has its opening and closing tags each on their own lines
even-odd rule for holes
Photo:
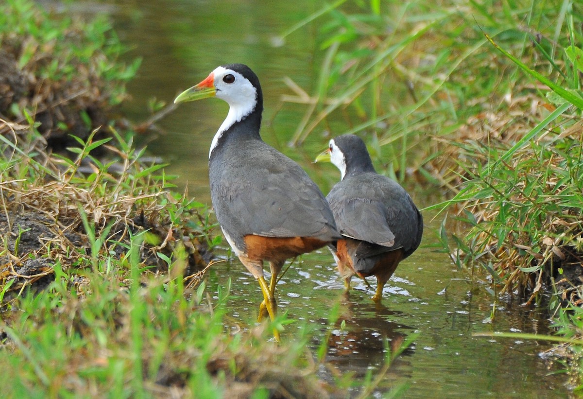
<svg viewBox="0 0 583 399">
<path fill-rule="evenodd" d="M 430 240 L 429 239 L 426 239 Z M 261 291 L 237 260 L 217 264 L 211 281 L 233 281 L 229 306 L 237 327 L 249 325 L 257 315 Z M 374 281 L 371 281 L 374 285 Z M 385 361 L 385 344 L 397 348 L 418 332 L 410 347 L 391 366 L 375 391 L 407 383 L 405 397 L 565 397 L 563 377 L 549 376 L 552 364 L 539 354 L 550 345 L 507 338 L 473 337 L 474 332 L 549 332 L 544 314 L 500 303 L 492 322 L 492 299 L 463 272 L 456 271 L 444 254 L 421 248 L 403 261 L 387 283 L 381 306 L 374 291 L 353 279 L 347 295 L 327 251 L 304 255 L 278 285 L 279 311 L 297 323 L 288 325 L 283 340 L 301 334 L 303 320 L 321 325 L 313 332 L 316 351 L 331 328 L 326 359 L 342 373 L 364 377 Z M 325 317 L 339 306 L 335 326 Z M 345 320 L 345 328 L 340 323 Z M 245 328 L 245 327 L 243 327 Z M 323 373 L 324 377 L 330 376 Z M 355 389 L 355 392 L 357 389 Z"/>
</svg>

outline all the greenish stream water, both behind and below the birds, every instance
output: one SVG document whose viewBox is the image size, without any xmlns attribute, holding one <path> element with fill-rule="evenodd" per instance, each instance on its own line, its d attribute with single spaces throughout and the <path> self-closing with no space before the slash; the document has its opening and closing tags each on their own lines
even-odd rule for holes
<svg viewBox="0 0 583 399">
<path fill-rule="evenodd" d="M 201 81 L 217 65 L 245 62 L 264 88 L 265 141 L 300 162 L 324 192 L 338 179 L 332 166 L 311 164 L 326 145 L 318 134 L 301 148 L 287 148 L 304 107 L 282 106 L 279 100 L 290 93 L 283 76 L 308 91 L 314 86 L 322 57 L 316 44 L 318 24 L 291 34 L 283 47 L 273 46 L 274 37 L 319 6 L 308 0 L 111 3 L 115 27 L 133 48 L 128 58 L 143 57 L 139 76 L 129 85 L 134 100 L 124 104 L 129 117 L 141 122 L 151 97 L 171 103 L 177 93 Z M 159 135 L 141 138 L 150 142 L 150 152 L 171 163 L 168 171 L 179 176 L 179 187 L 188 185 L 189 195 L 201 202 L 209 202 L 208 149 L 226 112 L 219 100 L 184 104 L 158 124 Z M 333 134 L 342 132 L 339 128 Z M 431 194 L 419 188 L 412 195 L 421 206 L 433 202 Z M 568 396 L 564 377 L 549 375 L 555 369 L 539 356 L 550 345 L 472 336 L 483 331 L 546 334 L 549 328 L 545 314 L 516 303 L 498 303 L 490 321 L 493 297 L 468 274 L 457 271 L 447 255 L 432 249 L 437 222 L 431 222 L 430 216 L 424 215 L 422 247 L 402 262 L 387 283 L 382 306 L 370 301 L 373 292 L 356 279 L 350 294 L 344 293 L 328 251 L 304 255 L 278 285 L 279 310 L 297 320 L 286 327 L 283 340 L 293 340 L 309 321 L 320 326 L 311 332 L 315 350 L 330 328 L 328 361 L 341 373 L 353 372 L 361 378 L 384 364 L 385 337 L 389 346 L 398 347 L 418 332 L 413 344 L 392 363 L 375 397 L 403 383 L 409 386 L 405 397 Z M 257 316 L 261 292 L 236 259 L 217 264 L 210 272 L 209 286 L 224 286 L 229 276 L 233 281 L 229 316 L 235 320 L 233 328 L 246 328 Z M 336 306 L 340 317 L 336 326 L 329 327 L 326 317 Z M 322 377 L 331 376 L 322 370 Z"/>
</svg>

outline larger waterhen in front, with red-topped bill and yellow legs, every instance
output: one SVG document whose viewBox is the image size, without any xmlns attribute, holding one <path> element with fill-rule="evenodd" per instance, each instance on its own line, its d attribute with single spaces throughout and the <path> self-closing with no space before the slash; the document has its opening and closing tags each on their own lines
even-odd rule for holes
<svg viewBox="0 0 583 399">
<path fill-rule="evenodd" d="M 259 320 L 265 311 L 273 320 L 275 286 L 284 262 L 340 236 L 318 186 L 296 162 L 262 141 L 263 96 L 257 75 L 243 64 L 217 67 L 174 103 L 206 97 L 229 103 L 209 152 L 215 214 L 234 253 L 261 286 Z M 264 261 L 271 268 L 269 285 Z"/>
</svg>

